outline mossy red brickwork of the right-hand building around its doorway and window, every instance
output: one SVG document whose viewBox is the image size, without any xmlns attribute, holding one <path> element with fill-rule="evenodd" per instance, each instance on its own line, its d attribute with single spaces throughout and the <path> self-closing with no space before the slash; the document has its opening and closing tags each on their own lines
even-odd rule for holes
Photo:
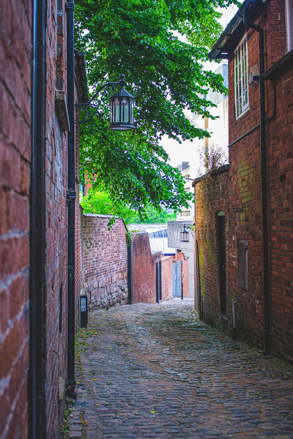
<svg viewBox="0 0 293 439">
<path fill-rule="evenodd" d="M 265 68 L 286 53 L 284 1 L 266 2 L 255 18 L 264 28 Z M 258 65 L 258 34 L 247 30 L 248 70 Z M 234 56 L 234 55 L 233 55 Z M 234 58 L 229 60 L 229 141 L 252 129 L 260 121 L 259 88 L 249 86 L 250 109 L 235 120 Z M 269 288 L 271 300 L 272 352 L 293 360 L 292 318 L 292 122 L 293 71 L 265 83 Z M 203 318 L 221 326 L 217 271 L 217 210 L 226 213 L 226 262 L 228 325 L 232 325 L 232 299 L 236 299 L 235 334 L 260 348 L 264 346 L 264 297 L 262 264 L 262 211 L 259 128 L 229 148 L 230 172 L 212 180 L 195 181 L 195 230 L 199 245 L 199 272 Z M 248 240 L 248 290 L 238 287 L 238 241 Z M 197 288 L 195 288 L 195 291 Z M 196 291 L 197 292 L 197 291 Z M 195 294 L 195 301 L 197 295 Z M 229 326 L 228 326 L 229 328 Z"/>
</svg>

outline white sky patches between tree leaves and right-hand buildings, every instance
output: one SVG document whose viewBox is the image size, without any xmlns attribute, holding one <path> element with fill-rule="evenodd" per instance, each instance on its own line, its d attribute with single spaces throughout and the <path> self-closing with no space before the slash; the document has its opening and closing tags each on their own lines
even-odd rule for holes
<svg viewBox="0 0 293 439">
<path fill-rule="evenodd" d="M 241 3 L 243 2 L 243 0 L 240 1 Z M 238 7 L 235 5 L 231 5 L 227 8 L 220 9 L 221 13 L 223 14 L 222 17 L 220 18 L 220 23 L 223 29 L 225 29 L 227 24 L 232 20 L 237 10 Z M 180 34 L 178 34 L 177 36 L 178 38 L 180 37 L 180 39 L 182 39 Z M 203 63 L 203 65 L 206 70 L 212 70 L 212 71 L 215 71 L 219 67 L 219 64 L 217 64 L 214 61 L 206 61 L 205 63 Z M 190 112 L 189 113 L 186 112 L 186 115 L 192 117 Z M 185 140 L 184 142 L 179 144 L 173 139 L 168 139 L 168 136 L 164 136 L 160 143 L 163 146 L 164 150 L 169 155 L 170 165 L 174 167 L 180 165 L 181 162 L 188 162 L 190 161 L 191 158 L 194 158 L 194 150 L 197 149 L 196 139 L 193 140 L 193 142 L 190 142 L 189 140 Z"/>
</svg>

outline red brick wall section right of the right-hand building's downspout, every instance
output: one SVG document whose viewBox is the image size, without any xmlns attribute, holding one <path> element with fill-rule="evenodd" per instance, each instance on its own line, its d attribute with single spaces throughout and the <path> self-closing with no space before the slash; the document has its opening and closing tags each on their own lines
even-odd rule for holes
<svg viewBox="0 0 293 439">
<path fill-rule="evenodd" d="M 293 360 L 293 71 L 276 86 L 277 113 L 267 128 L 269 270 L 273 352 Z M 284 97 L 286 96 L 286 103 Z"/>
</svg>

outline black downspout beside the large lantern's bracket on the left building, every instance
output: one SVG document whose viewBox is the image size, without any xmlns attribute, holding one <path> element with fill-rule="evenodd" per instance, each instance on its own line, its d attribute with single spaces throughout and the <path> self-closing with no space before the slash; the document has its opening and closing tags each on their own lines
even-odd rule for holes
<svg viewBox="0 0 293 439">
<path fill-rule="evenodd" d="M 66 3 L 67 16 L 67 105 L 69 132 L 67 137 L 68 154 L 68 240 L 67 240 L 67 388 L 70 398 L 76 399 L 75 392 L 75 122 L 74 122 L 74 1 Z"/>
</svg>

